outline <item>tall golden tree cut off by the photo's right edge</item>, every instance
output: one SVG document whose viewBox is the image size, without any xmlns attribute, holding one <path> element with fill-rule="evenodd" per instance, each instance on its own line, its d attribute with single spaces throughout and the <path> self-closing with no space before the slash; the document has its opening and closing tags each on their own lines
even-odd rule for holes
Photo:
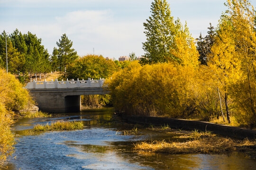
<svg viewBox="0 0 256 170">
<path fill-rule="evenodd" d="M 227 15 L 232 23 L 236 52 L 241 62 L 243 76 L 231 86 L 232 97 L 237 104 L 238 120 L 256 126 L 256 32 L 253 6 L 248 0 L 228 0 Z"/>
</svg>

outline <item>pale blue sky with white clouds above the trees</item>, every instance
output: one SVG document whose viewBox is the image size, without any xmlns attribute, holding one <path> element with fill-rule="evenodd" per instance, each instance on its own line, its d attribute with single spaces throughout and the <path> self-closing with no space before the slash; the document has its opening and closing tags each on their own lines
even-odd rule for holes
<svg viewBox="0 0 256 170">
<path fill-rule="evenodd" d="M 226 0 L 167 0 L 174 19 L 187 22 L 194 38 L 217 26 Z M 31 32 L 51 54 L 63 34 L 78 55 L 118 59 L 144 54 L 143 23 L 151 15 L 152 0 L 0 0 L 0 32 Z M 251 1 L 256 6 L 256 0 Z"/>
</svg>

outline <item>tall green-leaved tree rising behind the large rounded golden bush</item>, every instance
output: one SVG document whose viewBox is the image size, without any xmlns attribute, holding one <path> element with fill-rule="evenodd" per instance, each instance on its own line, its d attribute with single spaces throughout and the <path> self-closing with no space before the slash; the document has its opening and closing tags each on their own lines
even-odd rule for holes
<svg viewBox="0 0 256 170">
<path fill-rule="evenodd" d="M 175 30 L 179 25 L 174 24 L 171 10 L 166 0 L 154 0 L 151 5 L 151 17 L 143 23 L 145 26 L 146 42 L 143 50 L 146 52 L 141 64 L 165 62 L 173 58 L 169 52 L 173 42 Z"/>
</svg>

